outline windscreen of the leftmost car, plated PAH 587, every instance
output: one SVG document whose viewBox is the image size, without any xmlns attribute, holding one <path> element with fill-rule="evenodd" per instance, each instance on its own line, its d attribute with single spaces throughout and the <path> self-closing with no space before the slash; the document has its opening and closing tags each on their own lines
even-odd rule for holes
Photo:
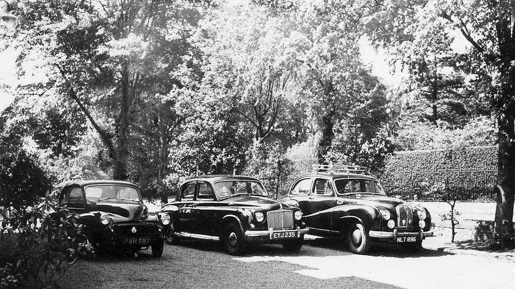
<svg viewBox="0 0 515 289">
<path fill-rule="evenodd" d="M 140 202 L 140 194 L 134 187 L 122 185 L 93 185 L 85 188 L 89 201 L 125 200 Z"/>
</svg>

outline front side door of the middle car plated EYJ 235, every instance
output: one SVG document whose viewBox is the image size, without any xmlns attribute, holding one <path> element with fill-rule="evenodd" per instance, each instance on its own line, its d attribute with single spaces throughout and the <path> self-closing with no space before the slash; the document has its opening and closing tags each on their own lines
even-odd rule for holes
<svg viewBox="0 0 515 289">
<path fill-rule="evenodd" d="M 215 193 L 211 184 L 199 181 L 197 193 L 191 209 L 193 232 L 202 235 L 216 236 L 219 218 L 216 215 Z"/>
</svg>

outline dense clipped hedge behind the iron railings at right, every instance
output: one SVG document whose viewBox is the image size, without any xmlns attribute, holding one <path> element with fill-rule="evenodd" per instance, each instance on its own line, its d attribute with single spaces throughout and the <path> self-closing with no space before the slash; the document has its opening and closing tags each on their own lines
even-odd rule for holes
<svg viewBox="0 0 515 289">
<path fill-rule="evenodd" d="M 405 200 L 493 202 L 497 147 L 397 152 L 386 160 L 381 182 Z"/>
</svg>

